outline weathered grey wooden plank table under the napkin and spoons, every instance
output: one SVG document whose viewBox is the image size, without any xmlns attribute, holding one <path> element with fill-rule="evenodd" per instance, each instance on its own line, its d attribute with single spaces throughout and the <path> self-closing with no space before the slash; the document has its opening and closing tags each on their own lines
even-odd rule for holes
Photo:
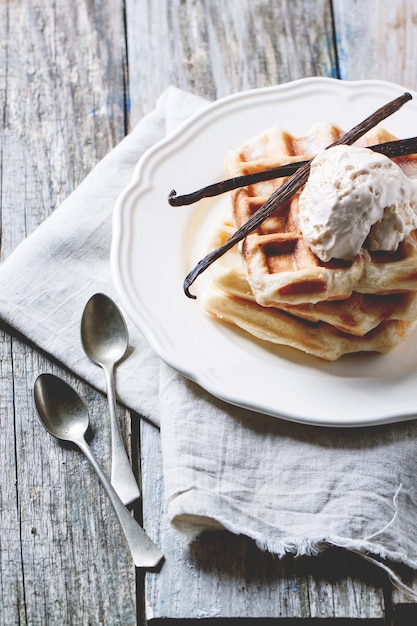
<svg viewBox="0 0 417 626">
<path fill-rule="evenodd" d="M 313 75 L 417 89 L 417 0 L 2 0 L 0 33 L 1 260 L 170 84 L 211 100 Z M 119 407 L 143 485 L 136 514 L 166 556 L 159 573 L 135 572 L 87 462 L 40 428 L 33 382 L 52 371 L 76 385 L 100 458 L 105 398 L 4 325 L 0 338 L 1 626 L 416 619 L 382 572 L 342 551 L 280 561 L 222 532 L 188 545 L 161 521 L 158 431 Z"/>
</svg>

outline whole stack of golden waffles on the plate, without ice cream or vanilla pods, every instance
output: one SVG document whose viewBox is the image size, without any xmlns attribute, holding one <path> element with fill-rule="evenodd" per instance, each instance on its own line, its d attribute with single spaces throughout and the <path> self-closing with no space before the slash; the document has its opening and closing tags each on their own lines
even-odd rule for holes
<svg viewBox="0 0 417 626">
<path fill-rule="evenodd" d="M 310 159 L 342 134 L 330 124 L 317 124 L 303 137 L 270 129 L 226 155 L 226 176 Z M 357 145 L 393 139 L 377 128 Z M 417 178 L 417 157 L 395 160 Z M 230 212 L 217 225 L 210 249 L 226 241 L 285 180 L 231 192 Z M 212 265 L 203 308 L 262 340 L 329 361 L 352 352 L 388 352 L 417 323 L 417 231 L 395 253 L 371 252 L 365 243 L 353 262 L 325 263 L 301 234 L 299 193 Z"/>
</svg>

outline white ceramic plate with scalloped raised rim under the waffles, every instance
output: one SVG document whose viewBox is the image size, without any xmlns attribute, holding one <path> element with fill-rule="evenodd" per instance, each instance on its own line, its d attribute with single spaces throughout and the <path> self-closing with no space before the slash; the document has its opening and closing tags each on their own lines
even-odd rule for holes
<svg viewBox="0 0 417 626">
<path fill-rule="evenodd" d="M 388 355 L 334 363 L 256 341 L 204 314 L 202 274 L 183 280 L 206 253 L 207 229 L 227 197 L 170 207 L 169 192 L 189 193 L 223 178 L 223 155 L 269 126 L 303 134 L 315 122 L 345 130 L 406 91 L 381 81 L 308 78 L 218 100 L 155 145 L 137 165 L 114 212 L 113 279 L 128 315 L 156 352 L 213 395 L 276 417 L 360 426 L 417 415 L 417 333 Z M 408 90 L 409 91 L 409 90 Z M 412 93 L 412 92 L 411 92 Z M 417 135 L 417 94 L 383 126 Z"/>
</svg>

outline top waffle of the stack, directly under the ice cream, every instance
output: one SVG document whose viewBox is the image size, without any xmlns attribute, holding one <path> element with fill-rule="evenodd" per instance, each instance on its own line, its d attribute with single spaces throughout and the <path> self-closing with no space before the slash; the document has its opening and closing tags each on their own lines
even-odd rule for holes
<svg viewBox="0 0 417 626">
<path fill-rule="evenodd" d="M 342 134 L 340 128 L 328 123 L 316 124 L 302 137 L 268 129 L 226 155 L 226 175 L 240 176 L 311 158 Z M 394 139 L 377 127 L 357 145 Z M 417 177 L 415 156 L 394 160 L 409 177 Z M 245 223 L 284 180 L 256 183 L 231 192 L 235 226 Z M 417 231 L 411 232 L 395 253 L 371 252 L 365 245 L 353 262 L 325 263 L 311 252 L 301 235 L 298 198 L 299 193 L 242 242 L 247 281 L 258 304 L 281 306 L 343 300 L 353 291 L 383 295 L 417 290 Z"/>
</svg>

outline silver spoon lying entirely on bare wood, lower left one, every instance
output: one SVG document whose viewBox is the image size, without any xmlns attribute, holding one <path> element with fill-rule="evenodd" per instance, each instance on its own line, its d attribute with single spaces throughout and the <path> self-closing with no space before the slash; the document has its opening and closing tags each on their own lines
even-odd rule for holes
<svg viewBox="0 0 417 626">
<path fill-rule="evenodd" d="M 84 439 L 89 418 L 80 396 L 61 378 L 41 374 L 35 381 L 34 398 L 44 428 L 57 439 L 76 444 L 90 461 L 110 498 L 136 567 L 156 567 L 163 558 L 161 552 L 123 505 Z"/>
</svg>

